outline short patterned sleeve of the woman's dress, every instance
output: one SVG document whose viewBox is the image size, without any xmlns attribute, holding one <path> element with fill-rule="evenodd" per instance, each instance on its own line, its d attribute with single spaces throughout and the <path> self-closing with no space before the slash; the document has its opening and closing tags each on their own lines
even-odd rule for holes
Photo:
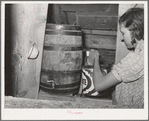
<svg viewBox="0 0 149 121">
<path fill-rule="evenodd" d="M 121 82 L 135 81 L 144 75 L 144 53 L 129 53 L 113 66 L 113 75 Z"/>
</svg>

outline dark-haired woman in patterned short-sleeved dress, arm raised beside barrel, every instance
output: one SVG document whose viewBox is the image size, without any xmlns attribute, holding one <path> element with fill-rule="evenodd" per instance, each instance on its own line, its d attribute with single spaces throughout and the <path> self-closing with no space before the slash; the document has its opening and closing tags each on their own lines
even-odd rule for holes
<svg viewBox="0 0 149 121">
<path fill-rule="evenodd" d="M 120 19 L 122 41 L 130 53 L 111 72 L 103 75 L 100 70 L 99 53 L 92 50 L 94 58 L 93 83 L 97 91 L 116 85 L 115 104 L 119 106 L 144 107 L 144 10 L 131 8 Z"/>
</svg>

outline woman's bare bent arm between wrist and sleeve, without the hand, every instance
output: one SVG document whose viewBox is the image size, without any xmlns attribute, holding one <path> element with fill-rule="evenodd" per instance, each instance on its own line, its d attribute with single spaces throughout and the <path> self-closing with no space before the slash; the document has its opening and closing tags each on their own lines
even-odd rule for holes
<svg viewBox="0 0 149 121">
<path fill-rule="evenodd" d="M 116 77 L 112 74 L 112 72 L 103 76 L 100 70 L 99 56 L 96 56 L 94 60 L 93 82 L 94 82 L 94 87 L 97 91 L 104 91 L 109 87 L 112 87 L 120 83 L 120 81 L 116 79 Z"/>
</svg>

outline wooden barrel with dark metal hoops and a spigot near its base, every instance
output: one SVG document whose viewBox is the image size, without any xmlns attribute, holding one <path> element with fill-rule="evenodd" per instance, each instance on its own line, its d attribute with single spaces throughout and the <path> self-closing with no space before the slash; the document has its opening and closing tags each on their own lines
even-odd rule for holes
<svg viewBox="0 0 149 121">
<path fill-rule="evenodd" d="M 82 69 L 80 26 L 47 23 L 40 88 L 51 93 L 79 91 Z"/>
</svg>

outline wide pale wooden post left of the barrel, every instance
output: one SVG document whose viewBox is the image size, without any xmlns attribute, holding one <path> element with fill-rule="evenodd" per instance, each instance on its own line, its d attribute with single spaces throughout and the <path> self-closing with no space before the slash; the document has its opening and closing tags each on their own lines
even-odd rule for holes
<svg viewBox="0 0 149 121">
<path fill-rule="evenodd" d="M 12 4 L 11 16 L 11 80 L 16 97 L 37 98 L 40 82 L 42 50 L 48 4 Z M 36 43 L 39 56 L 28 59 Z"/>
</svg>

